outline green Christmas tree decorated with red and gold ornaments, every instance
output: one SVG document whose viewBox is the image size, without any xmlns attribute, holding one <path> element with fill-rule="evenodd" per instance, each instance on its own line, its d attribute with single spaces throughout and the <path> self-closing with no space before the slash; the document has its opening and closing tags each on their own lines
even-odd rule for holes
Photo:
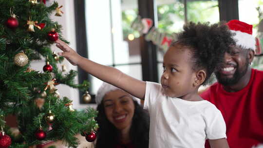
<svg viewBox="0 0 263 148">
<path fill-rule="evenodd" d="M 45 0 L 0 0 L 0 6 L 0 148 L 30 148 L 56 140 L 76 148 L 77 133 L 94 141 L 97 112 L 76 111 L 69 98 L 56 93 L 57 84 L 82 91 L 89 87 L 87 81 L 75 84 L 75 71 L 60 71 L 56 65 L 63 57 L 50 49 L 58 37 L 67 42 L 62 26 L 49 18 L 54 11 L 61 16 L 61 6 L 57 2 L 46 6 Z M 46 61 L 44 72 L 30 68 L 40 59 Z M 17 118 L 18 136 L 5 122 L 10 114 Z"/>
</svg>

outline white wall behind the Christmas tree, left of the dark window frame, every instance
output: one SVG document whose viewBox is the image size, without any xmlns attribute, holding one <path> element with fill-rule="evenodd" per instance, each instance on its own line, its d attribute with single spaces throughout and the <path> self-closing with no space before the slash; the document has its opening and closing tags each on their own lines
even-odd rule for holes
<svg viewBox="0 0 263 148">
<path fill-rule="evenodd" d="M 75 10 L 74 10 L 74 0 L 56 0 L 58 2 L 58 5 L 62 5 L 63 7 L 61 10 L 64 12 L 61 17 L 55 16 L 55 12 L 53 15 L 51 15 L 51 19 L 54 21 L 57 21 L 59 24 L 62 25 L 62 34 L 63 37 L 70 41 L 70 46 L 73 49 L 76 49 L 76 37 L 75 37 Z M 48 0 L 47 5 L 49 5 L 50 2 L 53 2 L 53 0 Z M 83 16 L 84 17 L 84 16 Z M 52 46 L 52 51 L 60 52 L 59 49 L 55 46 L 55 44 Z M 66 59 L 61 64 L 57 64 L 58 68 L 61 68 L 61 65 L 65 65 L 67 68 L 67 72 L 69 70 L 77 70 L 76 66 L 71 65 Z M 42 61 L 33 61 L 31 63 L 31 67 L 37 71 L 43 72 L 42 68 L 45 65 L 44 60 Z M 77 77 L 75 78 L 75 82 L 78 83 Z M 60 93 L 60 97 L 66 96 L 73 100 L 73 108 L 74 109 L 80 109 L 80 108 L 86 108 L 88 105 L 80 104 L 79 102 L 79 92 L 76 89 L 70 88 L 69 86 L 59 84 L 56 86 L 58 89 L 58 92 Z M 91 107 L 96 107 L 96 105 L 90 105 Z"/>
</svg>

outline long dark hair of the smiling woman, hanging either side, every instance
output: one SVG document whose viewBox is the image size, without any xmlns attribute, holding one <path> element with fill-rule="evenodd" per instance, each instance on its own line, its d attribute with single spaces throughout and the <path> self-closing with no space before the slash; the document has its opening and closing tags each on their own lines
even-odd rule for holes
<svg viewBox="0 0 263 148">
<path fill-rule="evenodd" d="M 135 148 L 149 148 L 149 127 L 150 117 L 147 111 L 134 101 L 134 115 L 130 129 L 131 142 Z M 107 119 L 103 101 L 97 107 L 97 122 L 99 129 L 97 131 L 97 140 L 95 148 L 113 148 L 118 142 L 118 129 Z"/>
</svg>

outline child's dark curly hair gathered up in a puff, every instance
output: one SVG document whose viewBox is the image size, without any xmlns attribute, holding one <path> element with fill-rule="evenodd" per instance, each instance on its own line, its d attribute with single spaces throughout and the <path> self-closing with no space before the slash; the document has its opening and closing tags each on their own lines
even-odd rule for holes
<svg viewBox="0 0 263 148">
<path fill-rule="evenodd" d="M 181 45 L 190 49 L 192 53 L 192 69 L 195 71 L 204 69 L 207 77 L 203 85 L 207 84 L 207 79 L 220 66 L 224 59 L 225 52 L 230 51 L 230 45 L 235 45 L 230 32 L 225 23 L 210 25 L 207 23 L 197 24 L 189 22 L 184 25 L 184 31 L 177 36 L 178 40 L 171 46 Z"/>
</svg>

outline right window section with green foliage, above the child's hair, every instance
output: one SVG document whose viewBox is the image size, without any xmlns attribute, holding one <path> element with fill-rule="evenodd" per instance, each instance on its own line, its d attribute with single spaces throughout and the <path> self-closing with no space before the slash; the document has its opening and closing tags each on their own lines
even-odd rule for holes
<svg viewBox="0 0 263 148">
<path fill-rule="evenodd" d="M 157 0 L 157 14 L 157 28 L 160 32 L 178 33 L 188 21 L 219 22 L 218 0 Z M 163 73 L 165 51 L 166 49 L 159 49 L 157 53 L 159 80 Z"/>
</svg>

